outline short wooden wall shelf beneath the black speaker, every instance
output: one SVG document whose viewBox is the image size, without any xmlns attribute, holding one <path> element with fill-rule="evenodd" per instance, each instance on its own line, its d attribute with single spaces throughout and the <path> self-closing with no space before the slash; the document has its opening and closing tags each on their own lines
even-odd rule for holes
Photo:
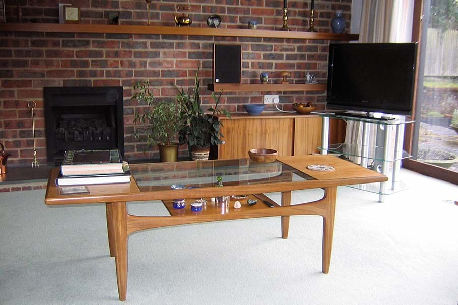
<svg viewBox="0 0 458 305">
<path fill-rule="evenodd" d="M 208 84 L 210 91 L 326 91 L 326 84 Z"/>
</svg>

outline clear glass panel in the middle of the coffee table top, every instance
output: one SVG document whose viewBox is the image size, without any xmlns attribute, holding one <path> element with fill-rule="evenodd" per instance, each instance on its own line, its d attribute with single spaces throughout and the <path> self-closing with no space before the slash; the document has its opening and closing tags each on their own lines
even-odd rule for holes
<svg viewBox="0 0 458 305">
<path fill-rule="evenodd" d="M 141 191 L 170 190 L 177 184 L 213 187 L 218 176 L 224 186 L 314 180 L 279 161 L 259 163 L 250 159 L 132 164 L 130 171 Z"/>
</svg>

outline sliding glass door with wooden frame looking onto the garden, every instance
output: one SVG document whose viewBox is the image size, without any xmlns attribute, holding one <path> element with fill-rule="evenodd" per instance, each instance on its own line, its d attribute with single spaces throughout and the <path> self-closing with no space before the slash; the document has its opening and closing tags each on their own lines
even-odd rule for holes
<svg viewBox="0 0 458 305">
<path fill-rule="evenodd" d="M 424 0 L 412 159 L 405 167 L 458 181 L 458 1 Z"/>
</svg>

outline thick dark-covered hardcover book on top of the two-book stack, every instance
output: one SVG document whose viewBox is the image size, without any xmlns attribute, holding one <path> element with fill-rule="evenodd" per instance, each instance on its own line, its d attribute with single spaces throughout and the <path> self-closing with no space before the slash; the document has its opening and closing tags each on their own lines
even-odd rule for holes
<svg viewBox="0 0 458 305">
<path fill-rule="evenodd" d="M 64 176 L 123 172 L 123 160 L 118 149 L 67 150 L 61 165 Z"/>
</svg>

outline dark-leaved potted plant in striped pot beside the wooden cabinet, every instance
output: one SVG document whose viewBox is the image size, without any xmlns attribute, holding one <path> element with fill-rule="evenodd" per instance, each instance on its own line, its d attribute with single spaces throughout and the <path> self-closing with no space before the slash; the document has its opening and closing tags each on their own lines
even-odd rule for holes
<svg viewBox="0 0 458 305">
<path fill-rule="evenodd" d="M 215 107 L 207 109 L 205 113 L 201 108 L 201 96 L 199 88 L 201 81 L 198 79 L 199 68 L 195 74 L 194 88 L 189 92 L 178 89 L 176 100 L 182 105 L 181 117 L 185 124 L 179 131 L 180 144 L 188 144 L 189 154 L 192 160 L 207 160 L 210 154 L 210 146 L 222 143 L 221 122 L 215 114 L 223 113 L 231 117 L 225 109 L 218 109 L 222 91 L 216 96 L 212 93 Z"/>
</svg>

